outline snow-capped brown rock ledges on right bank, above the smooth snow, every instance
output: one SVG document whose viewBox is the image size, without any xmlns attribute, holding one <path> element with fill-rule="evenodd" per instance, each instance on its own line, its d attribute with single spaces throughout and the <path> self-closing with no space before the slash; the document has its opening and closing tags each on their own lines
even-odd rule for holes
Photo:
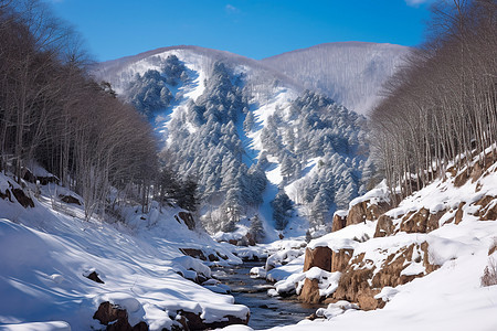
<svg viewBox="0 0 497 331">
<path fill-rule="evenodd" d="M 382 308 L 391 300 L 387 293 L 391 288 L 436 273 L 459 258 L 477 260 L 473 256 L 480 252 L 495 265 L 491 233 L 496 223 L 488 221 L 496 218 L 497 163 L 483 167 L 475 159 L 467 169 L 452 169 L 444 180 L 415 192 L 396 207 L 390 205 L 385 188 L 356 199 L 347 213 L 335 215 L 331 234 L 309 243 L 304 271 L 322 268 L 315 261 L 330 260 L 329 271 L 340 277 L 320 301 L 347 300 L 362 310 Z M 371 238 L 367 231 L 358 231 L 367 227 L 373 233 Z M 487 266 L 487 274 L 491 267 Z M 482 269 L 482 282 L 485 275 Z M 300 299 L 315 302 L 324 282 L 306 280 Z"/>
</svg>

